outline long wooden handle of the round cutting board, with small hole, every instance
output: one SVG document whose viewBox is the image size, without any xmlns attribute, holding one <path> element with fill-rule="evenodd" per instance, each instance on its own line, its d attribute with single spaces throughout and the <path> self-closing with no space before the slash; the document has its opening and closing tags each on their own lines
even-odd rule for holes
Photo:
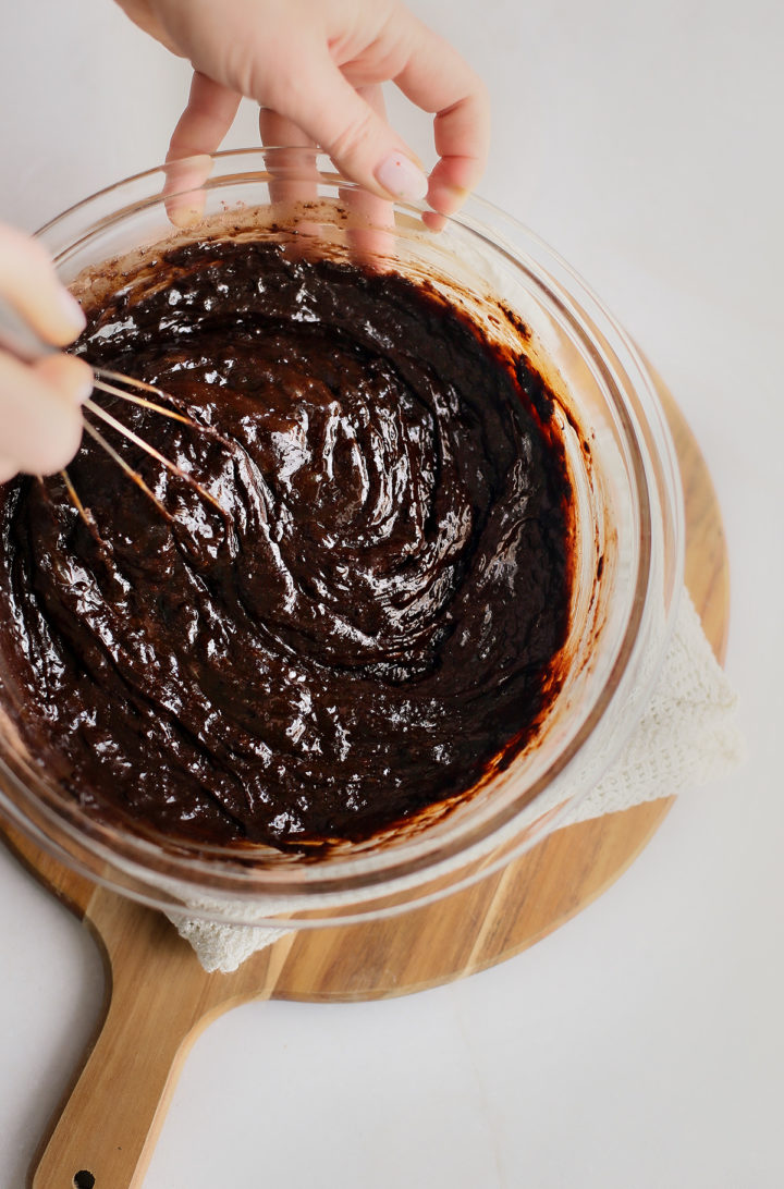
<svg viewBox="0 0 784 1189">
<path fill-rule="evenodd" d="M 220 977 L 207 990 L 162 913 L 98 889 L 86 921 L 107 946 L 111 1006 L 32 1189 L 138 1189 L 190 1045 L 236 1001 Z"/>
</svg>

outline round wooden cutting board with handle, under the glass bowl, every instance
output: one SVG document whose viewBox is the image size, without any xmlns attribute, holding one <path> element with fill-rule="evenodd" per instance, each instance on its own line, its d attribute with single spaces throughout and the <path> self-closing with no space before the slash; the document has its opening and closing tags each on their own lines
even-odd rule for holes
<svg viewBox="0 0 784 1189">
<path fill-rule="evenodd" d="M 686 505 L 686 585 L 723 660 L 729 572 L 700 449 L 660 385 Z M 106 965 L 105 1014 L 54 1130 L 33 1189 L 138 1189 L 177 1074 L 200 1031 L 251 999 L 362 1000 L 464 977 L 532 945 L 613 883 L 667 813 L 666 797 L 559 830 L 469 888 L 402 916 L 281 937 L 234 974 L 205 974 L 159 913 L 96 887 L 11 826 L 5 841 L 80 916 Z"/>
</svg>

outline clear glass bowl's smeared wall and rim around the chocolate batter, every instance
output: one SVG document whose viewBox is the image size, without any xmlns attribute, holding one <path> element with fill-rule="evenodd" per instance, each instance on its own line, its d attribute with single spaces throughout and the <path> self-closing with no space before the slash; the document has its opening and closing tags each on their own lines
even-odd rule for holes
<svg viewBox="0 0 784 1189">
<path fill-rule="evenodd" d="M 653 382 L 601 302 L 532 232 L 479 199 L 439 233 L 424 225 L 422 209 L 380 202 L 309 150 L 264 149 L 139 174 L 38 233 L 77 292 L 111 258 L 121 272 L 152 245 L 249 231 L 294 244 L 308 237 L 338 256 L 425 277 L 545 373 L 575 491 L 570 665 L 537 737 L 449 812 L 433 806 L 318 862 L 263 847 L 150 841 L 94 822 L 26 753 L 2 709 L 0 656 L 4 812 L 65 864 L 146 904 L 287 927 L 422 904 L 553 830 L 617 755 L 656 682 L 683 583 L 684 534 L 677 458 Z"/>
</svg>

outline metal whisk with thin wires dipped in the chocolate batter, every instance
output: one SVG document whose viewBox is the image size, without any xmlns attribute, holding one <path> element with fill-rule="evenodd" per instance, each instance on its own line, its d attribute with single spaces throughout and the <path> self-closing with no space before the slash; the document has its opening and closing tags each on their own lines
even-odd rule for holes
<svg viewBox="0 0 784 1189">
<path fill-rule="evenodd" d="M 0 296 L 0 347 L 5 351 L 11 352 L 17 359 L 23 363 L 36 363 L 38 359 L 45 359 L 46 356 L 55 353 L 55 347 L 51 344 L 45 342 L 32 326 L 11 306 L 2 296 Z M 121 401 L 126 401 L 130 404 L 138 404 L 145 409 L 151 409 L 155 413 L 161 414 L 164 417 L 169 417 L 171 421 L 180 421 L 186 426 L 192 426 L 194 429 L 203 429 L 190 417 L 182 413 L 176 413 L 174 409 L 165 408 L 159 404 L 158 401 L 169 401 L 173 403 L 171 397 L 163 391 L 161 388 L 156 388 L 155 384 L 148 384 L 144 380 L 134 379 L 132 376 L 124 376 L 120 372 L 111 371 L 106 367 L 93 367 L 93 373 L 95 376 L 94 388 L 99 389 L 101 392 L 106 392 L 109 396 L 119 397 Z M 124 385 L 124 386 L 120 386 Z M 133 389 L 132 392 L 126 391 L 127 388 Z M 146 395 L 139 395 L 146 394 Z M 158 401 L 151 401 L 150 396 L 157 396 Z M 133 442 L 140 449 L 143 449 L 151 458 L 155 458 L 162 466 L 164 466 L 173 474 L 176 474 L 180 479 L 188 484 L 192 490 L 196 491 L 203 499 L 213 504 L 218 511 L 224 514 L 224 509 L 220 503 L 215 499 L 209 491 L 207 491 L 193 476 L 188 474 L 181 467 L 178 467 L 171 459 L 165 458 L 159 451 L 151 446 L 150 442 L 140 438 L 133 429 L 128 426 L 123 424 L 113 414 L 108 413 L 107 409 L 101 408 L 95 401 L 84 401 L 82 409 L 88 410 L 93 416 L 98 417 L 105 424 L 111 426 L 128 441 Z M 123 458 L 123 455 L 112 446 L 111 442 L 106 440 L 102 433 L 95 428 L 92 422 L 82 415 L 82 422 L 84 426 L 84 432 L 101 447 L 106 451 L 109 458 L 117 463 L 120 470 L 127 474 L 133 483 L 137 484 L 144 491 L 146 496 L 153 502 L 153 504 L 159 510 L 161 515 L 168 521 L 173 520 L 171 514 L 164 508 L 155 492 L 145 483 L 138 471 L 134 471 L 132 466 Z M 82 517 L 86 524 L 90 523 L 90 517 L 87 514 L 84 505 L 82 504 L 79 495 L 71 483 L 71 479 L 67 470 L 61 472 L 63 483 L 65 484 L 65 490 L 68 496 L 74 504 L 76 511 Z"/>
</svg>

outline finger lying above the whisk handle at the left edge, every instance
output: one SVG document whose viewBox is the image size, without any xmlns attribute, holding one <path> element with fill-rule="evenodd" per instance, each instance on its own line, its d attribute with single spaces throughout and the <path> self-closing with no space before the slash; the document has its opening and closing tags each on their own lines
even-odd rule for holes
<svg viewBox="0 0 784 1189">
<path fill-rule="evenodd" d="M 79 302 L 57 279 L 42 245 L 11 227 L 0 227 L 0 296 L 54 346 L 73 342 L 84 329 Z"/>
</svg>

